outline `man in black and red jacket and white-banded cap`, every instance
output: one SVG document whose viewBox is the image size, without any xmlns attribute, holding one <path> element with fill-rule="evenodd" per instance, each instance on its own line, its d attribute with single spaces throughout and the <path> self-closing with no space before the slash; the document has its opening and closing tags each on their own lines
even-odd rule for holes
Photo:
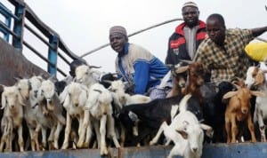
<svg viewBox="0 0 267 158">
<path fill-rule="evenodd" d="M 166 64 L 175 65 L 179 59 L 192 60 L 195 52 L 206 37 L 206 24 L 198 20 L 198 5 L 188 2 L 182 5 L 184 22 L 175 28 L 169 38 Z"/>
</svg>

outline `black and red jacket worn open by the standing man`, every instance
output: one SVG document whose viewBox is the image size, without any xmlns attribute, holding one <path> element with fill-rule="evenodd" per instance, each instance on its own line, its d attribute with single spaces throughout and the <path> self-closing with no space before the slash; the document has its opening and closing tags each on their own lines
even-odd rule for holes
<svg viewBox="0 0 267 158">
<path fill-rule="evenodd" d="M 186 49 L 186 41 L 184 37 L 183 28 L 185 23 L 183 22 L 177 28 L 175 32 L 169 38 L 168 51 L 165 63 L 175 65 L 178 63 L 179 59 L 190 59 L 190 55 Z M 196 48 L 198 48 L 199 43 L 201 43 L 206 38 L 206 24 L 205 22 L 199 20 L 199 27 L 196 36 Z"/>
</svg>

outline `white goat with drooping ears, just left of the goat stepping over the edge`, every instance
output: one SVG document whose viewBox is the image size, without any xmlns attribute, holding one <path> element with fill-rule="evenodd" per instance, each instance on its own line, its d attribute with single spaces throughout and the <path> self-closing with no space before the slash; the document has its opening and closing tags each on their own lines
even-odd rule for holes
<svg viewBox="0 0 267 158">
<path fill-rule="evenodd" d="M 72 118 L 77 118 L 79 122 L 78 134 L 80 135 L 84 120 L 84 108 L 88 98 L 88 89 L 80 83 L 69 83 L 60 95 L 61 104 L 67 111 L 67 122 L 65 128 L 65 138 L 62 149 L 67 149 L 69 146 L 69 133 L 71 130 Z M 89 144 L 88 144 L 89 146 Z"/>
</svg>

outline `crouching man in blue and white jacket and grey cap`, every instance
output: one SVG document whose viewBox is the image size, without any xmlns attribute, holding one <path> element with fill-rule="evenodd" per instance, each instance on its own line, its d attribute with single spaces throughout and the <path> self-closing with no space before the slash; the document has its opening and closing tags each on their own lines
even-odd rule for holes
<svg viewBox="0 0 267 158">
<path fill-rule="evenodd" d="M 134 84 L 134 94 L 149 93 L 151 99 L 166 97 L 168 90 L 157 87 L 168 72 L 162 61 L 141 46 L 128 43 L 124 27 L 109 29 L 109 43 L 117 51 L 116 71 L 125 82 Z"/>
</svg>

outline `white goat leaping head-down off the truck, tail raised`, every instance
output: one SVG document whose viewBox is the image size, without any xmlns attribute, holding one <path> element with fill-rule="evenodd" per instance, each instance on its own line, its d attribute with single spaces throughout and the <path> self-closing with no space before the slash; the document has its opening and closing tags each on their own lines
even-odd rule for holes
<svg viewBox="0 0 267 158">
<path fill-rule="evenodd" d="M 180 113 L 174 117 L 170 125 L 163 122 L 156 137 L 150 141 L 150 145 L 157 143 L 160 133 L 164 131 L 168 142 L 169 140 L 174 141 L 174 147 L 168 155 L 169 158 L 174 155 L 181 155 L 184 158 L 200 158 L 204 140 L 203 130 L 212 130 L 206 124 L 199 123 L 197 117 L 186 110 L 190 97 L 191 95 L 188 94 L 182 99 L 179 105 Z"/>
</svg>

